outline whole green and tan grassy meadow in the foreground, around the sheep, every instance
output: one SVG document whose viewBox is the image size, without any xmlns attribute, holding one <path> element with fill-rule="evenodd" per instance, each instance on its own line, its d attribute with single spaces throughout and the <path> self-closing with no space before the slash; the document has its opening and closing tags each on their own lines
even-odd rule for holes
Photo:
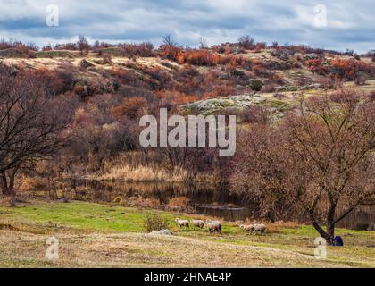
<svg viewBox="0 0 375 286">
<path fill-rule="evenodd" d="M 145 232 L 147 214 L 170 221 L 172 237 Z M 16 267 L 375 267 L 375 232 L 337 230 L 344 248 L 328 248 L 316 259 L 310 226 L 270 225 L 264 234 L 244 234 L 237 223 L 223 233 L 180 230 L 174 218 L 192 218 L 156 210 L 86 202 L 31 200 L 0 207 L 0 266 Z M 196 217 L 196 216 L 194 216 Z M 46 239 L 60 241 L 56 264 L 46 261 Z"/>
</svg>

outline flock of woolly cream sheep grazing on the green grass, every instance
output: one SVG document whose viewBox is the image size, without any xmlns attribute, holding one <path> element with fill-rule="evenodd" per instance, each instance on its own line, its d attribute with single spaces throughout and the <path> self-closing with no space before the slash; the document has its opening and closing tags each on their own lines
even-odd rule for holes
<svg viewBox="0 0 375 286">
<path fill-rule="evenodd" d="M 194 228 L 203 229 L 206 228 L 210 233 L 221 233 L 221 223 L 217 221 L 202 221 L 202 220 L 180 220 L 179 218 L 176 218 L 175 222 L 179 225 L 180 228 L 189 228 L 190 223 L 194 226 Z M 267 226 L 265 224 L 257 224 L 257 223 L 250 223 L 249 225 L 241 224 L 239 226 L 241 230 L 243 230 L 245 233 L 247 232 L 265 232 L 267 229 Z"/>
</svg>

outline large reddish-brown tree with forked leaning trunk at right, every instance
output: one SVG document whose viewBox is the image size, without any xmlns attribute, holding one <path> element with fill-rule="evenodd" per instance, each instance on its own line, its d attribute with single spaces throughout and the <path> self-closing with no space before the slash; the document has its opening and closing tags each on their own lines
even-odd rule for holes
<svg viewBox="0 0 375 286">
<path fill-rule="evenodd" d="M 301 100 L 239 145 L 233 191 L 274 219 L 304 215 L 329 244 L 337 223 L 375 199 L 375 104 L 353 90 Z"/>
</svg>

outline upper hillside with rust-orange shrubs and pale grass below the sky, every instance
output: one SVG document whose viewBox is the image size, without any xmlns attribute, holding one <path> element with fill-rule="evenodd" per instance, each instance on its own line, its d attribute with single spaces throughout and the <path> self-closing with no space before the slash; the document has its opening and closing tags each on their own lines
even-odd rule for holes
<svg viewBox="0 0 375 286">
<path fill-rule="evenodd" d="M 237 44 L 197 50 L 162 46 L 142 56 L 140 48 L 113 46 L 85 55 L 71 50 L 32 51 L 27 56 L 8 48 L 0 56 L 16 70 L 35 71 L 45 78 L 54 94 L 86 99 L 114 94 L 119 97 L 116 102 L 141 97 L 149 109 L 254 94 L 279 105 L 280 100 L 293 101 L 296 93 L 309 95 L 354 84 L 366 93 L 374 90 L 375 63 L 365 56 L 306 46 L 245 49 Z M 227 107 L 244 106 L 234 102 Z"/>
</svg>

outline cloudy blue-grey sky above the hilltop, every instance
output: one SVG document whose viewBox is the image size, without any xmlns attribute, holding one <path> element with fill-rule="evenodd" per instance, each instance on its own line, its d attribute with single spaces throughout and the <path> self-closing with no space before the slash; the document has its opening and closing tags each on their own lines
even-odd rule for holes
<svg viewBox="0 0 375 286">
<path fill-rule="evenodd" d="M 268 43 L 362 53 L 375 49 L 374 11 L 374 0 L 0 0 L 0 38 L 42 46 L 83 34 L 159 45 L 171 34 L 196 46 L 198 38 L 213 45 L 249 34 Z"/>
</svg>

